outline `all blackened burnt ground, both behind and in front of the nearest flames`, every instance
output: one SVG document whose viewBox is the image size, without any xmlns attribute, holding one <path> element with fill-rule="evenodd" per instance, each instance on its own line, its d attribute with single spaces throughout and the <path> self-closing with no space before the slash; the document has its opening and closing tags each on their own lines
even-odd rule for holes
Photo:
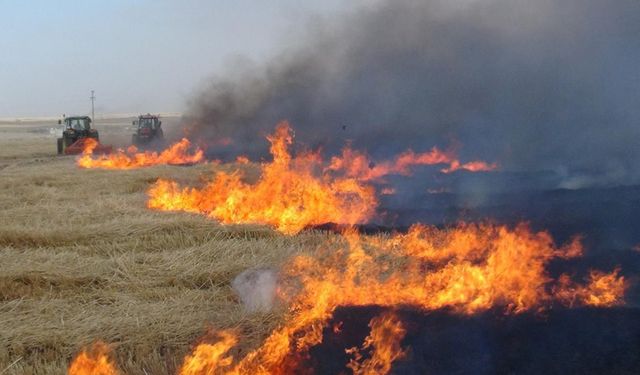
<svg viewBox="0 0 640 375">
<path fill-rule="evenodd" d="M 584 256 L 552 261 L 551 276 L 569 273 L 579 280 L 590 269 L 619 267 L 630 285 L 626 306 L 617 308 L 556 307 L 515 315 L 496 309 L 473 316 L 400 308 L 408 331 L 402 346 L 409 349 L 392 373 L 640 373 L 640 186 L 559 189 L 553 187 L 558 181 L 552 174 L 517 173 L 440 176 L 441 187 L 431 192 L 425 180 L 396 177 L 388 182 L 396 194 L 382 197 L 378 222 L 362 226 L 362 232 L 404 231 L 415 222 L 524 221 L 534 230 L 549 231 L 558 243 L 583 238 Z M 328 327 L 343 322 L 342 332 L 325 329 L 323 344 L 310 352 L 309 366 L 316 374 L 344 371 L 350 358 L 344 349 L 362 345 L 369 321 L 382 310 L 339 308 Z"/>
</svg>

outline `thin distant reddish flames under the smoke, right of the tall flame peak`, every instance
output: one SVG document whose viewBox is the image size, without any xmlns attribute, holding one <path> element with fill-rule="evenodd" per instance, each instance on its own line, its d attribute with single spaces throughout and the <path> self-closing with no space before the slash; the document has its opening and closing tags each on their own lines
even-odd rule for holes
<svg viewBox="0 0 640 375">
<path fill-rule="evenodd" d="M 440 169 L 442 173 L 451 173 L 457 170 L 470 172 L 493 171 L 498 168 L 497 163 L 484 161 L 471 161 L 462 163 L 457 159 L 453 150 L 441 151 L 437 147 L 423 153 L 412 150 L 403 152 L 393 160 L 374 163 L 369 157 L 351 148 L 342 150 L 341 156 L 331 158 L 327 171 L 342 172 L 348 177 L 358 178 L 362 181 L 380 180 L 390 174 L 408 176 L 416 165 L 448 165 Z"/>
</svg>

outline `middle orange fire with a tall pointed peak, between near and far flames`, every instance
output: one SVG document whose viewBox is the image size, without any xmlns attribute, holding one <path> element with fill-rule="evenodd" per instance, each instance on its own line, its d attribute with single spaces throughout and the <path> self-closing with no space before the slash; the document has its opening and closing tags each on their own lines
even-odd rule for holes
<svg viewBox="0 0 640 375">
<path fill-rule="evenodd" d="M 320 158 L 308 153 L 292 157 L 287 122 L 280 123 L 271 142 L 271 163 L 261 166 L 255 184 L 241 172 L 218 173 L 201 189 L 158 180 L 148 191 L 147 206 L 158 210 L 202 213 L 224 224 L 260 223 L 295 234 L 308 225 L 328 222 L 356 224 L 372 217 L 377 199 L 372 187 L 354 178 L 318 176 Z"/>
</svg>

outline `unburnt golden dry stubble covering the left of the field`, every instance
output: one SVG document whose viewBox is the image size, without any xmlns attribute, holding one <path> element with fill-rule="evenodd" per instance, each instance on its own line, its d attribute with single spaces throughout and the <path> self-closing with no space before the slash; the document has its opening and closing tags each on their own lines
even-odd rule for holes
<svg viewBox="0 0 640 375">
<path fill-rule="evenodd" d="M 80 170 L 54 146 L 34 127 L 0 127 L 3 375 L 64 374 L 97 339 L 126 374 L 175 373 L 207 327 L 237 327 L 257 345 L 281 313 L 243 312 L 231 280 L 326 236 L 153 212 L 144 192 L 156 178 L 195 182 L 213 167 Z"/>
</svg>

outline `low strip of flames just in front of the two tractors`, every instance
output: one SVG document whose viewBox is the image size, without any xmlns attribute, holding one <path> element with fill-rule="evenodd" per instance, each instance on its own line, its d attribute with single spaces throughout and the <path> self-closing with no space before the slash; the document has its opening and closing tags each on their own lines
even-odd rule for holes
<svg viewBox="0 0 640 375">
<path fill-rule="evenodd" d="M 169 146 L 166 150 L 158 153 L 156 151 L 139 152 L 135 146 L 130 146 L 126 151 L 118 150 L 107 155 L 94 155 L 94 150 L 98 142 L 90 139 L 86 142 L 82 156 L 77 163 L 82 168 L 103 168 L 103 169 L 135 169 L 149 167 L 159 164 L 193 164 L 204 160 L 204 152 L 200 148 L 190 152 L 192 148 L 188 139 L 182 138 Z"/>
</svg>

